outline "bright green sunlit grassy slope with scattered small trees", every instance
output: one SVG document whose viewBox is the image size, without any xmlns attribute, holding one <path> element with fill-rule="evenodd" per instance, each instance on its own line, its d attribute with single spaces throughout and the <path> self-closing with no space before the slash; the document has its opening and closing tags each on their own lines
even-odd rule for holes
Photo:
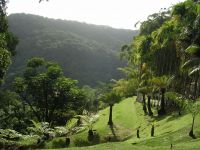
<svg viewBox="0 0 200 150">
<path fill-rule="evenodd" d="M 101 141 L 105 137 L 112 136 L 112 131 L 107 126 L 108 108 L 100 112 L 99 121 L 94 125 L 94 129 L 100 134 Z M 113 121 L 115 124 L 114 132 L 118 140 L 128 140 L 124 142 L 109 142 L 90 147 L 73 147 L 66 150 L 167 150 L 170 143 L 174 149 L 195 150 L 200 147 L 200 116 L 195 121 L 195 134 L 197 139 L 193 140 L 188 136 L 191 126 L 191 115 L 186 114 L 179 117 L 176 113 L 163 118 L 150 118 L 144 116 L 141 104 L 135 102 L 133 98 L 126 99 L 114 106 Z M 155 125 L 155 137 L 150 137 L 151 124 Z M 141 125 L 140 139 L 136 138 L 136 128 Z M 130 137 L 131 136 L 131 137 Z M 74 139 L 87 140 L 87 131 L 72 137 Z M 58 140 L 58 139 L 55 139 Z M 61 139 L 59 139 L 61 140 Z M 46 148 L 52 147 L 52 142 L 46 144 Z"/>
</svg>

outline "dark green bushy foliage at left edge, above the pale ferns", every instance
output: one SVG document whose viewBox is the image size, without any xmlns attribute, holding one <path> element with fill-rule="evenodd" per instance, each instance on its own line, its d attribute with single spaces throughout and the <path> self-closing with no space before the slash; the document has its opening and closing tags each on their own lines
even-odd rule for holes
<svg viewBox="0 0 200 150">
<path fill-rule="evenodd" d="M 23 131 L 29 125 L 29 117 L 29 107 L 15 92 L 0 90 L 0 128 Z"/>
</svg>

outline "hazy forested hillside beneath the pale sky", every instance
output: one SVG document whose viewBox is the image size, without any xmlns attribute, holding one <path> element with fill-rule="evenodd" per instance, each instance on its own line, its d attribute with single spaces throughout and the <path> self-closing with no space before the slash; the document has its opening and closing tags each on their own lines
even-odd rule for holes
<svg viewBox="0 0 200 150">
<path fill-rule="evenodd" d="M 81 85 L 96 85 L 118 79 L 123 66 L 118 52 L 130 42 L 136 31 L 113 29 L 74 21 L 54 20 L 35 15 L 13 14 L 8 17 L 10 31 L 19 39 L 17 55 L 8 78 L 20 75 L 33 56 L 58 62 L 64 74 Z"/>
</svg>

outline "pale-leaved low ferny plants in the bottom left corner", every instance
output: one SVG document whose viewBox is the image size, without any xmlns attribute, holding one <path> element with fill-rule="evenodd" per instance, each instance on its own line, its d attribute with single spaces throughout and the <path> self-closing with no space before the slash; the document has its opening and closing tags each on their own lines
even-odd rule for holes
<svg viewBox="0 0 200 150">
<path fill-rule="evenodd" d="M 69 133 L 69 130 L 64 126 L 51 128 L 47 122 L 36 122 L 32 120 L 32 123 L 34 126 L 28 127 L 25 130 L 26 135 L 11 129 L 0 129 L 0 148 L 20 147 L 20 142 L 23 141 L 31 141 L 29 147 L 37 147 L 46 140 L 53 139 L 54 137 L 67 136 Z M 69 141 L 66 141 L 66 143 L 69 145 Z"/>
</svg>

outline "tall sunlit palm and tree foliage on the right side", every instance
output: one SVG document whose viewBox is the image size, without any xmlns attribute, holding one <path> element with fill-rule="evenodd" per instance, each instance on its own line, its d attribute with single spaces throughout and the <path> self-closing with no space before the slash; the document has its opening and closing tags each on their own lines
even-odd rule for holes
<svg viewBox="0 0 200 150">
<path fill-rule="evenodd" d="M 199 3 L 186 0 L 172 9 L 150 15 L 141 23 L 140 34 L 122 47 L 128 67 L 134 66 L 134 71 L 129 74 L 139 72 L 137 77 L 133 77 L 139 80 L 139 90 L 147 93 L 153 85 L 163 90 L 168 88 L 186 98 L 200 96 L 199 16 Z M 146 70 L 152 72 L 152 81 L 148 79 Z"/>
</svg>

